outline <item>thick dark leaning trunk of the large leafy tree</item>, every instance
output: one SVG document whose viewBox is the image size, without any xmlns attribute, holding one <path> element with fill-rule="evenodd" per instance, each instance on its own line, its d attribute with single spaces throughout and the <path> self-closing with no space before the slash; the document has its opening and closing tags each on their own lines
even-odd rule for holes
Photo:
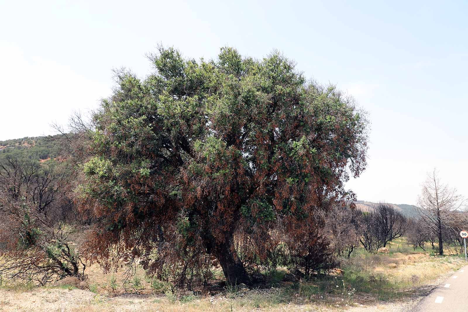
<svg viewBox="0 0 468 312">
<path fill-rule="evenodd" d="M 237 285 L 240 283 L 249 284 L 249 275 L 235 251 L 232 251 L 230 243 L 226 242 L 216 249 L 215 255 L 221 264 L 221 268 L 223 268 L 226 282 L 229 285 Z"/>
</svg>

